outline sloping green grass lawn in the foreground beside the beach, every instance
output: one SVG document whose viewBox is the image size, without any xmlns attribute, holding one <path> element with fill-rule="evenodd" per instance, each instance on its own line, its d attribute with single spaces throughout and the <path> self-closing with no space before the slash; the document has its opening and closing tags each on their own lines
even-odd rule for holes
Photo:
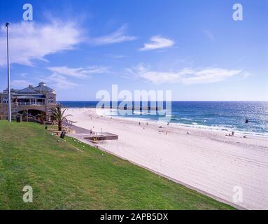
<svg viewBox="0 0 268 224">
<path fill-rule="evenodd" d="M 69 137 L 58 140 L 43 125 L 0 121 L 0 209 L 233 209 Z M 27 185 L 33 203 L 22 201 Z"/>
</svg>

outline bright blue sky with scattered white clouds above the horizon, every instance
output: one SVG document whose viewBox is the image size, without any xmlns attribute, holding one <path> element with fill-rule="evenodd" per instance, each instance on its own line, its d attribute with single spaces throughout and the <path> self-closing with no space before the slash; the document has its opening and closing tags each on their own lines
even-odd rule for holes
<svg viewBox="0 0 268 224">
<path fill-rule="evenodd" d="M 22 20 L 31 3 L 34 20 Z M 232 6 L 241 3 L 243 21 Z M 44 80 L 59 100 L 172 90 L 174 100 L 267 100 L 268 1 L 0 1 L 0 89 Z"/>
</svg>

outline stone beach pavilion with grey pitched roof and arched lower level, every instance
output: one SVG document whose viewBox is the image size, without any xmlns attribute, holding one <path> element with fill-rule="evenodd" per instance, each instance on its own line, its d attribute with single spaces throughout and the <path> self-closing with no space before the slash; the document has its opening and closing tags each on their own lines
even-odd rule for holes
<svg viewBox="0 0 268 224">
<path fill-rule="evenodd" d="M 29 85 L 22 90 L 10 90 L 11 95 L 11 116 L 27 114 L 32 118 L 50 120 L 52 109 L 56 106 L 55 90 L 41 82 L 34 87 Z M 27 116 L 27 117 L 28 117 Z M 8 117 L 8 90 L 0 93 L 0 119 Z"/>
</svg>

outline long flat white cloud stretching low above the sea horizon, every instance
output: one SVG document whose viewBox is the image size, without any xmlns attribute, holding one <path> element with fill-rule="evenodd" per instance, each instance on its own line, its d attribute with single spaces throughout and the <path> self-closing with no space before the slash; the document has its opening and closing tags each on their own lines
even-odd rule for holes
<svg viewBox="0 0 268 224">
<path fill-rule="evenodd" d="M 183 83 L 185 85 L 199 83 L 216 83 L 241 74 L 241 70 L 221 68 L 181 69 L 179 71 L 151 71 L 142 65 L 127 69 L 130 77 L 139 77 L 152 83 Z"/>
</svg>

